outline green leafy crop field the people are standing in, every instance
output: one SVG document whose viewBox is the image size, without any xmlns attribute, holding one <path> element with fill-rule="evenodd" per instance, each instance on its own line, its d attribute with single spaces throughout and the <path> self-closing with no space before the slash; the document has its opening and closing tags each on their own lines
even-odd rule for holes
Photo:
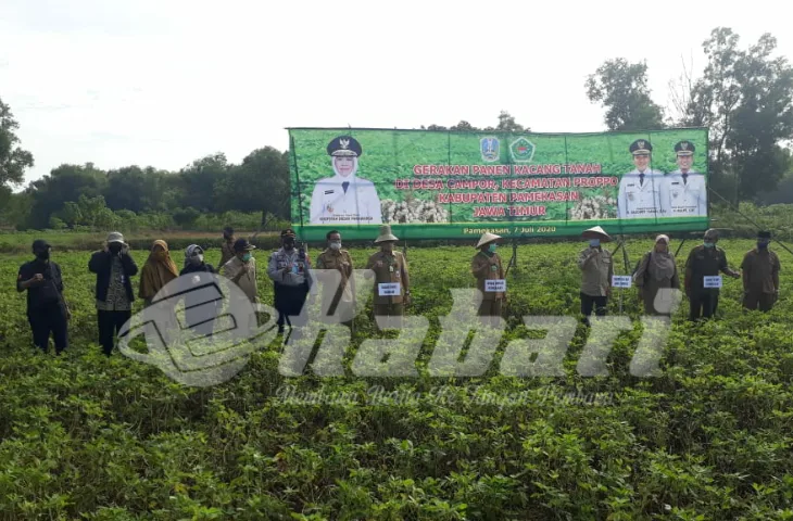
<svg viewBox="0 0 793 521">
<path fill-rule="evenodd" d="M 752 242 L 719 245 L 738 267 Z M 576 315 L 581 247 L 519 249 L 509 329 L 483 377 L 356 378 L 356 350 L 382 336 L 361 316 L 344 377 L 285 378 L 281 347 L 269 343 L 235 378 L 206 389 L 100 355 L 88 252 L 53 254 L 74 309 L 72 345 L 61 358 L 35 353 L 24 295 L 12 285 L 27 255 L 3 254 L 0 520 L 793 519 L 789 256 L 780 253 L 783 295 L 770 314 L 743 314 L 732 280 L 717 320 L 692 326 L 680 309 L 657 378 L 628 370 L 638 329 L 617 336 L 608 376 L 579 376 L 582 327 L 564 376 L 499 376 L 506 342 L 537 338 L 520 326 L 524 315 Z M 630 243 L 629 265 L 649 247 Z M 144 260 L 144 251 L 133 253 Z M 373 250 L 351 253 L 360 267 Z M 421 370 L 451 309 L 450 289 L 473 287 L 473 254 L 408 251 L 408 313 L 430 322 Z M 207 260 L 218 255 L 209 251 Z M 257 253 L 260 266 L 265 255 Z M 273 302 L 263 276 L 260 297 Z M 635 320 L 633 291 L 622 305 Z M 618 306 L 613 298 L 609 313 Z M 298 399 L 318 394 L 348 399 Z"/>
</svg>

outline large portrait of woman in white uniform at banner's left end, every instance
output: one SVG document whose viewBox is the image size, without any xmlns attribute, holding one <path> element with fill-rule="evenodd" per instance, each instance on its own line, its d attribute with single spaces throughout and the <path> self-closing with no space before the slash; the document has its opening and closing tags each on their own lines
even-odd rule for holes
<svg viewBox="0 0 793 521">
<path fill-rule="evenodd" d="M 382 213 L 375 183 L 356 176 L 361 143 L 351 136 L 335 138 L 327 148 L 336 175 L 319 179 L 311 198 L 312 225 L 380 225 Z"/>
</svg>

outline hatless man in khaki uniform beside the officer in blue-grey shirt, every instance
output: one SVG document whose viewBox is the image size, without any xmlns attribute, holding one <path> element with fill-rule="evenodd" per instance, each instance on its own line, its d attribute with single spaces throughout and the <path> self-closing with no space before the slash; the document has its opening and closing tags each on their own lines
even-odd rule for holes
<svg viewBox="0 0 793 521">
<path fill-rule="evenodd" d="M 328 288 L 323 291 L 323 310 L 332 316 L 338 312 L 339 319 L 347 326 L 352 326 L 352 312 L 354 309 L 352 281 L 352 257 L 350 252 L 341 249 L 341 233 L 331 230 L 325 236 L 328 240 L 328 249 L 319 254 L 316 260 L 316 269 L 335 269 L 341 276 L 339 288 L 333 292 Z M 332 283 L 327 274 L 317 272 L 317 279 L 325 283 Z"/>
</svg>

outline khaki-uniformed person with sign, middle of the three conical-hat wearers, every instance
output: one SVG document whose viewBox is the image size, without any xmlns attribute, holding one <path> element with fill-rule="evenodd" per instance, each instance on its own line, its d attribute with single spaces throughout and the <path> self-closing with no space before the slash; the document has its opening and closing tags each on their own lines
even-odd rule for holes
<svg viewBox="0 0 793 521">
<path fill-rule="evenodd" d="M 496 242 L 500 240 L 501 237 L 494 233 L 482 234 L 476 245 L 479 249 L 479 253 L 474 255 L 470 262 L 470 272 L 477 279 L 477 289 L 482 292 L 482 303 L 477 314 L 482 317 L 482 323 L 489 323 L 493 328 L 499 326 L 502 304 L 506 298 L 506 291 L 496 291 L 493 285 L 499 285 L 498 282 L 487 284 L 484 281 L 499 281 L 504 283 L 503 289 L 506 290 L 504 267 L 501 263 L 501 257 L 495 253 L 495 249 L 498 247 Z M 488 285 L 491 287 L 489 288 Z"/>
</svg>

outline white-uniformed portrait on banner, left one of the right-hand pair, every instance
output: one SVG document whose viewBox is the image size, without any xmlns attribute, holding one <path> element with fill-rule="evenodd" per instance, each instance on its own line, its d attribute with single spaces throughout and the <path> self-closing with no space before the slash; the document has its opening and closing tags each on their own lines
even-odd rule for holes
<svg viewBox="0 0 793 521">
<path fill-rule="evenodd" d="M 653 145 L 646 139 L 637 139 L 630 145 L 635 168 L 622 175 L 617 196 L 617 217 L 620 219 L 665 217 L 660 204 L 664 173 L 650 167 Z"/>
</svg>

